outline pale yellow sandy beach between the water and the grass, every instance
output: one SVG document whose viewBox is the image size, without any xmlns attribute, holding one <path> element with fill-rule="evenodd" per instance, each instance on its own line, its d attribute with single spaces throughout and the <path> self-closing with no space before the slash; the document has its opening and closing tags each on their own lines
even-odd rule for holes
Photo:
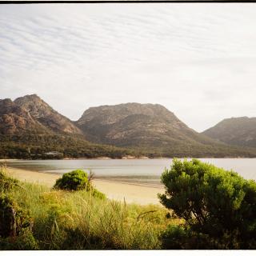
<svg viewBox="0 0 256 256">
<path fill-rule="evenodd" d="M 39 173 L 37 171 L 21 170 L 8 167 L 8 173 L 21 181 L 36 182 L 46 186 L 53 186 L 61 174 Z M 127 184 L 122 182 L 110 182 L 94 179 L 94 186 L 106 194 L 107 198 L 128 203 L 159 204 L 158 193 L 164 193 L 163 188 L 144 186 L 140 184 Z"/>
</svg>

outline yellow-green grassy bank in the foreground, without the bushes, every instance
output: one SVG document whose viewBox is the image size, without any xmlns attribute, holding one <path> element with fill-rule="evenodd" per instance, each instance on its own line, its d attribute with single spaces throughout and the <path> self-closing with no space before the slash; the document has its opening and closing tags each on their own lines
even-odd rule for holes
<svg viewBox="0 0 256 256">
<path fill-rule="evenodd" d="M 51 190 L 2 178 L 1 192 L 27 211 L 33 225 L 17 237 L 1 238 L 0 249 L 160 249 L 161 231 L 180 222 L 166 218 L 161 206 L 101 199 L 85 190 Z"/>
</svg>

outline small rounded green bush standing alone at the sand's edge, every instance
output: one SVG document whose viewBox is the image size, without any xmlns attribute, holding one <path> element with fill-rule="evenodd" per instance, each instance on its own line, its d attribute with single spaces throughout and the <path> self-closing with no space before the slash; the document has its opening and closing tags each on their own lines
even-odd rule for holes
<svg viewBox="0 0 256 256">
<path fill-rule="evenodd" d="M 62 178 L 58 178 L 54 188 L 61 190 L 90 190 L 90 182 L 86 172 L 73 170 L 63 174 Z"/>
</svg>

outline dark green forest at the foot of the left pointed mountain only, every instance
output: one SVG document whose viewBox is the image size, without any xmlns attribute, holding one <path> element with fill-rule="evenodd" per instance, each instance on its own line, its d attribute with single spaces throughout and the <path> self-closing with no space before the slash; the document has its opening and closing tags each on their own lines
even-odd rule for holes
<svg viewBox="0 0 256 256">
<path fill-rule="evenodd" d="M 0 158 L 58 159 L 58 158 L 122 158 L 139 155 L 135 150 L 86 142 L 84 138 L 74 138 L 68 134 L 16 134 L 1 136 Z M 59 155 L 47 155 L 58 151 Z"/>
</svg>

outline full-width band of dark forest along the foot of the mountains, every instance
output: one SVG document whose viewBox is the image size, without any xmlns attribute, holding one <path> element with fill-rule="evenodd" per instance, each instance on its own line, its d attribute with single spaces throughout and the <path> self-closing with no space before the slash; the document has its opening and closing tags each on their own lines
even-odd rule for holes
<svg viewBox="0 0 256 256">
<path fill-rule="evenodd" d="M 166 140 L 165 138 L 162 138 Z M 22 159 L 59 159 L 59 158 L 122 158 L 126 155 L 149 158 L 224 158 L 246 157 L 254 158 L 256 150 L 239 146 L 214 144 L 202 139 L 199 142 L 185 142 L 172 139 L 168 144 L 155 139 L 155 144 L 136 142 L 124 147 L 98 145 L 86 142 L 84 138 L 68 134 L 15 134 L 12 136 L 0 134 L 0 158 Z M 137 146 L 136 146 L 137 145 Z M 47 155 L 46 152 L 58 151 L 59 155 Z"/>
</svg>

